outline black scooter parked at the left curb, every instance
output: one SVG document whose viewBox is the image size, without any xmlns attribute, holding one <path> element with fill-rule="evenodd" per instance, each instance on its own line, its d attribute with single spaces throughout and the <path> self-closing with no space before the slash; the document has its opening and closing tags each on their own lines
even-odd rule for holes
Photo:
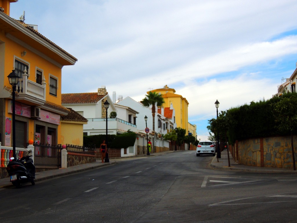
<svg viewBox="0 0 297 223">
<path fill-rule="evenodd" d="M 23 183 L 31 182 L 32 185 L 35 185 L 35 166 L 33 160 L 31 159 L 32 150 L 27 151 L 27 156 L 24 156 L 20 159 L 14 157 L 10 158 L 6 170 L 8 175 L 10 175 L 10 182 L 15 185 L 17 188 L 20 188 Z"/>
</svg>

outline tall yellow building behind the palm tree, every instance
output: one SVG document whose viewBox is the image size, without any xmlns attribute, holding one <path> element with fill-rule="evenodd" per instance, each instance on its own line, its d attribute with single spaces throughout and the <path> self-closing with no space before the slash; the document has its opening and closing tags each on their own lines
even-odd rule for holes
<svg viewBox="0 0 297 223">
<path fill-rule="evenodd" d="M 188 132 L 188 106 L 189 103 L 186 98 L 181 95 L 175 94 L 175 89 L 169 88 L 167 85 L 164 88 L 151 90 L 151 92 L 157 92 L 162 95 L 165 103 L 163 107 L 170 107 L 172 103 L 175 109 L 174 121 L 178 128 L 183 128 Z M 149 93 L 149 92 L 147 92 Z"/>
</svg>

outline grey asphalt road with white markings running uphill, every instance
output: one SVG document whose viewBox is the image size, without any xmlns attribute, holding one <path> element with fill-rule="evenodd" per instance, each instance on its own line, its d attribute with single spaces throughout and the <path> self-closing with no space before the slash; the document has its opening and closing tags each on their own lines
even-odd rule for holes
<svg viewBox="0 0 297 223">
<path fill-rule="evenodd" d="M 211 169 L 194 151 L 0 191 L 0 222 L 297 222 L 296 174 Z"/>
</svg>

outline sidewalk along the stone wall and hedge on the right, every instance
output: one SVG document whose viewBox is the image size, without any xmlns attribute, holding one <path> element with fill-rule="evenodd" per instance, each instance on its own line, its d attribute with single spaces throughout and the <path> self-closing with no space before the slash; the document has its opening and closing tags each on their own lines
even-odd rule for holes
<svg viewBox="0 0 297 223">
<path fill-rule="evenodd" d="M 272 167 L 251 167 L 246 165 L 240 165 L 236 163 L 231 154 L 229 153 L 230 157 L 230 167 L 228 167 L 228 153 L 227 150 L 223 150 L 221 152 L 221 158 L 219 158 L 219 162 L 217 161 L 217 156 L 215 156 L 210 166 L 215 169 L 225 169 L 225 170 L 238 170 L 238 171 L 254 171 L 254 172 L 266 172 L 266 173 L 295 173 L 297 174 L 297 170 L 294 171 L 292 169 L 286 168 L 272 168 Z"/>
</svg>

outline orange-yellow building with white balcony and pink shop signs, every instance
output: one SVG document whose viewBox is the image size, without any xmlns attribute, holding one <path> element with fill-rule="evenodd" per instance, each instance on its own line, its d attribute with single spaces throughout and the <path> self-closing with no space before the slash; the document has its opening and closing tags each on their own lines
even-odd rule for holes
<svg viewBox="0 0 297 223">
<path fill-rule="evenodd" d="M 16 147 L 29 139 L 42 144 L 61 143 L 61 71 L 77 59 L 37 31 L 37 26 L 15 20 L 10 4 L 0 0 L 0 142 L 12 146 L 12 70 L 20 77 L 15 96 Z"/>
</svg>

